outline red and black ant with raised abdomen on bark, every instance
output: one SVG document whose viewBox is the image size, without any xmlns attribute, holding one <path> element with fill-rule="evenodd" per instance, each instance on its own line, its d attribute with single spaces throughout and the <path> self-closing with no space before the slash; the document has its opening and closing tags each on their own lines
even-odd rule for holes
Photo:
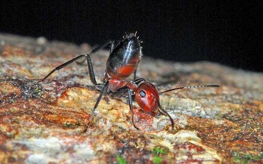
<svg viewBox="0 0 263 164">
<path fill-rule="evenodd" d="M 133 127 L 138 129 L 133 122 L 133 106 L 132 106 L 132 96 L 135 97 L 136 103 L 146 112 L 150 113 L 152 116 L 156 116 L 158 111 L 160 113 L 167 115 L 171 121 L 172 129 L 174 127 L 173 119 L 171 116 L 162 109 L 159 102 L 159 95 L 168 91 L 176 90 L 176 89 L 188 89 L 188 88 L 197 88 L 197 87 L 219 87 L 219 85 L 197 85 L 197 86 L 183 86 L 177 87 L 173 89 L 166 90 L 164 92 L 158 93 L 156 87 L 150 83 L 146 82 L 145 79 L 139 78 L 135 80 L 135 74 L 137 66 L 141 60 L 142 52 L 141 52 L 141 41 L 136 37 L 136 33 L 126 34 L 122 41 L 119 41 L 117 44 L 114 44 L 114 41 L 108 41 L 107 43 L 99 46 L 94 49 L 90 54 L 93 54 L 99 49 L 106 47 L 108 44 L 111 44 L 110 55 L 106 62 L 106 70 L 103 78 L 104 83 L 97 83 L 94 70 L 91 62 L 90 55 L 82 54 L 79 55 L 66 63 L 56 67 L 53 69 L 46 77 L 44 77 L 39 82 L 48 78 L 52 73 L 57 70 L 62 69 L 66 65 L 78 60 L 79 58 L 86 57 L 89 69 L 89 75 L 91 82 L 100 90 L 99 98 L 95 106 L 93 107 L 93 111 L 89 120 L 89 125 L 91 125 L 92 118 L 94 116 L 95 109 L 98 107 L 99 102 L 103 95 L 110 94 L 113 96 L 124 96 L 128 92 L 128 102 L 132 114 L 132 124 Z M 85 61 L 85 60 L 83 60 Z M 83 61 L 79 63 L 83 63 Z M 132 73 L 134 73 L 134 81 L 126 81 L 123 80 L 129 77 Z"/>
</svg>

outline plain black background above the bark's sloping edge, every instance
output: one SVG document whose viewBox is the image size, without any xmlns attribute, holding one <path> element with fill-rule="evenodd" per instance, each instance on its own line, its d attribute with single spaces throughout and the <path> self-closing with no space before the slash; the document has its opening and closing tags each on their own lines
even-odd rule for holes
<svg viewBox="0 0 263 164">
<path fill-rule="evenodd" d="M 263 71 L 263 2 L 0 2 L 0 32 L 99 45 L 138 31 L 147 56 Z"/>
</svg>

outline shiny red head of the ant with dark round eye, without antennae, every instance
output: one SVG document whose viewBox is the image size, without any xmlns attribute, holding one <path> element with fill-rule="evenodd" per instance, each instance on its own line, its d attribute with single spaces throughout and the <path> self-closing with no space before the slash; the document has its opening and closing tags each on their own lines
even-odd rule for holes
<svg viewBox="0 0 263 164">
<path fill-rule="evenodd" d="M 135 93 L 137 104 L 152 116 L 157 114 L 159 95 L 155 86 L 150 82 L 142 82 Z"/>
</svg>

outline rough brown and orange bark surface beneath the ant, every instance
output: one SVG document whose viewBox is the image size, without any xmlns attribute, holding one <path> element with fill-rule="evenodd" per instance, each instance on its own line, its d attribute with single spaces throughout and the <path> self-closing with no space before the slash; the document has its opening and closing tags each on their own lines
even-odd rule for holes
<svg viewBox="0 0 263 164">
<path fill-rule="evenodd" d="M 144 44 L 147 44 L 145 42 Z M 87 66 L 71 65 L 37 83 L 81 53 L 77 46 L 44 38 L 0 34 L 0 163 L 263 163 L 263 74 L 209 62 L 175 63 L 143 57 L 137 76 L 159 91 L 220 84 L 160 96 L 175 128 L 136 103 L 132 126 L 125 99 L 104 97 L 89 123 L 99 91 Z M 97 81 L 108 51 L 92 55 Z"/>
</svg>

